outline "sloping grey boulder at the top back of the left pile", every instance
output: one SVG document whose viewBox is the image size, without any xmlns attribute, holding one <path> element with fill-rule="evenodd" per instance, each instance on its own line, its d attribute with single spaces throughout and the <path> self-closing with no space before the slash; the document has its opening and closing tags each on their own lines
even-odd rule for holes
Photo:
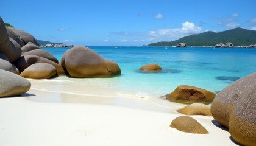
<svg viewBox="0 0 256 146">
<path fill-rule="evenodd" d="M 23 30 L 16 29 L 14 27 L 9 27 L 13 32 L 16 33 L 16 35 L 20 36 L 21 40 L 23 40 L 24 44 L 27 44 L 28 42 L 32 42 L 33 44 L 39 46 L 37 40 L 35 40 L 34 36 L 30 35 L 27 32 L 24 32 Z"/>
</svg>

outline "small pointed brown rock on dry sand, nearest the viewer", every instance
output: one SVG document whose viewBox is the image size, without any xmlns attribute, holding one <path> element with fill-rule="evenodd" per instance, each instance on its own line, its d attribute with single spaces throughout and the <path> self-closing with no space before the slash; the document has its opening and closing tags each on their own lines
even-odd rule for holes
<svg viewBox="0 0 256 146">
<path fill-rule="evenodd" d="M 189 116 L 180 116 L 172 120 L 170 127 L 187 133 L 207 134 L 208 131 L 197 120 Z"/>
</svg>

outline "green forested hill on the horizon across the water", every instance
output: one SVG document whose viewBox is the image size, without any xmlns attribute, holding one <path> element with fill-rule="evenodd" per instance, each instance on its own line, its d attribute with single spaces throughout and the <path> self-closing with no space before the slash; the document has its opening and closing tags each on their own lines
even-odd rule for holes
<svg viewBox="0 0 256 146">
<path fill-rule="evenodd" d="M 215 46 L 227 42 L 231 42 L 235 46 L 256 44 L 256 31 L 236 28 L 218 33 L 204 32 L 185 36 L 176 41 L 151 43 L 148 46 L 176 46 L 179 43 L 186 43 L 187 46 Z"/>
</svg>

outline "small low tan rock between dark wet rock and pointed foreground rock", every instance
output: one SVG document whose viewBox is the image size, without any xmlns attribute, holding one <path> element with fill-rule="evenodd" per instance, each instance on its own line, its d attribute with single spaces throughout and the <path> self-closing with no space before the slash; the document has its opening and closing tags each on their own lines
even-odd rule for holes
<svg viewBox="0 0 256 146">
<path fill-rule="evenodd" d="M 187 105 L 184 108 L 177 110 L 177 112 L 186 115 L 212 116 L 210 107 L 202 103 L 193 103 L 191 105 Z"/>
</svg>

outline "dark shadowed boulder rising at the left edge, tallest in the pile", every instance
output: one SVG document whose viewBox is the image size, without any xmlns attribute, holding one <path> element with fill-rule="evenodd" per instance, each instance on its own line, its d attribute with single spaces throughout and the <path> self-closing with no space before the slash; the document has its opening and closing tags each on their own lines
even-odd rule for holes
<svg viewBox="0 0 256 146">
<path fill-rule="evenodd" d="M 16 48 L 15 44 L 10 41 L 4 21 L 0 17 L 0 53 L 4 54 L 10 62 L 16 61 L 20 55 L 20 48 Z"/>
</svg>

